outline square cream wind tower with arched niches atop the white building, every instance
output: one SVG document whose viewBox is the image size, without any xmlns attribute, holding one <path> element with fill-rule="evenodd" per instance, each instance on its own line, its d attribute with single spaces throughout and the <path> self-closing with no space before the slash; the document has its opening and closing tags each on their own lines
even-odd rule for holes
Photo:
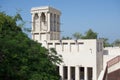
<svg viewBox="0 0 120 80">
<path fill-rule="evenodd" d="M 35 7 L 32 14 L 32 39 L 36 41 L 60 39 L 60 15 L 55 8 Z"/>
</svg>

